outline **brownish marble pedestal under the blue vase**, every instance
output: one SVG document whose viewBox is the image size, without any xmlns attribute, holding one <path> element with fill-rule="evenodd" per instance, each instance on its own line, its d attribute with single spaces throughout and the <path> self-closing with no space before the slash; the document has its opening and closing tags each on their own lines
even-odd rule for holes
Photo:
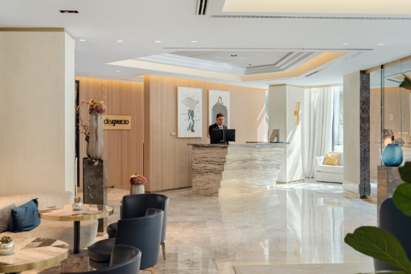
<svg viewBox="0 0 411 274">
<path fill-rule="evenodd" d="M 377 217 L 379 218 L 379 208 L 382 202 L 393 197 L 395 188 L 403 182 L 399 176 L 398 166 L 378 166 L 377 176 Z"/>
</svg>

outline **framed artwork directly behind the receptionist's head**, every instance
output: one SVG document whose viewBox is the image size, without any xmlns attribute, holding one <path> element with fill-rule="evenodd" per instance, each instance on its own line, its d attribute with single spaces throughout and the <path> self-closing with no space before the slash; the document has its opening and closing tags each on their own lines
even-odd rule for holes
<svg viewBox="0 0 411 274">
<path fill-rule="evenodd" d="M 216 123 L 216 115 L 224 114 L 224 125 L 229 128 L 229 92 L 208 90 L 208 123 Z"/>
</svg>

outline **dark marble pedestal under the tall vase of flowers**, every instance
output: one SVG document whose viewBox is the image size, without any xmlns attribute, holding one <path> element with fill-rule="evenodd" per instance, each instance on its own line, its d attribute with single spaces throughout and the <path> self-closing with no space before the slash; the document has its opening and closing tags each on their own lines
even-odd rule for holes
<svg viewBox="0 0 411 274">
<path fill-rule="evenodd" d="M 83 202 L 107 205 L 107 164 L 108 160 L 83 158 Z M 103 236 L 107 227 L 107 218 L 99 219 L 97 235 Z"/>
</svg>

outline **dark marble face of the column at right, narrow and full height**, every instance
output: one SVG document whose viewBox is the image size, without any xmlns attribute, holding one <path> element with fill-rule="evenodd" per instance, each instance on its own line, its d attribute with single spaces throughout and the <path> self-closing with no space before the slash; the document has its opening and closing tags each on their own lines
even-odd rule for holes
<svg viewBox="0 0 411 274">
<path fill-rule="evenodd" d="M 370 193 L 370 74 L 360 71 L 360 197 Z"/>
</svg>

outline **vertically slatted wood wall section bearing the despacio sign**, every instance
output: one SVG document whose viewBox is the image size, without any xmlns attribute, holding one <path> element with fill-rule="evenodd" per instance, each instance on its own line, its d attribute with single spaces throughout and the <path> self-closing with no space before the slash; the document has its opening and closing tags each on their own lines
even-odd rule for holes
<svg viewBox="0 0 411 274">
<path fill-rule="evenodd" d="M 129 176 L 143 172 L 144 105 L 143 85 L 129 82 L 109 81 L 76 77 L 79 80 L 80 100 L 89 101 L 102 97 L 101 85 L 105 86 L 105 114 L 132 116 L 131 130 L 104 130 L 103 158 L 108 159 L 108 186 L 129 189 Z M 82 116 L 88 120 L 87 106 Z M 80 135 L 80 188 L 83 188 L 83 164 L 86 157 L 86 141 Z"/>
</svg>

